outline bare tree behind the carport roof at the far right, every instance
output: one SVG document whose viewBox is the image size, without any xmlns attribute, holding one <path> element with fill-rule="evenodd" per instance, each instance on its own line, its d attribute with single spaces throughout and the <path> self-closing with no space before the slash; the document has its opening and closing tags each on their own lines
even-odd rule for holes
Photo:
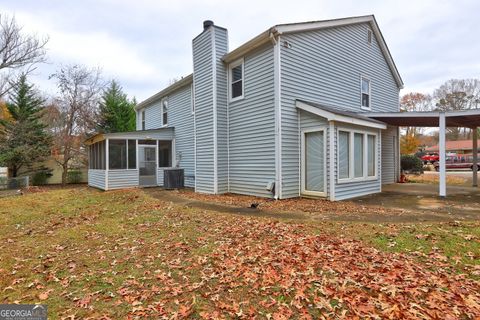
<svg viewBox="0 0 480 320">
<path fill-rule="evenodd" d="M 458 111 L 478 109 L 480 107 L 479 79 L 451 79 L 433 92 L 437 110 Z M 468 139 L 471 136 L 469 128 L 448 128 L 451 139 Z"/>
</svg>

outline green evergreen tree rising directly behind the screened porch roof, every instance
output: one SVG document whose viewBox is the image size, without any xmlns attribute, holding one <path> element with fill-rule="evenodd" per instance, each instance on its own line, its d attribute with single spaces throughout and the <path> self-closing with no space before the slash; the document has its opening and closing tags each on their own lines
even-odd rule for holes
<svg viewBox="0 0 480 320">
<path fill-rule="evenodd" d="M 134 131 L 135 105 L 135 99 L 128 100 L 122 87 L 112 80 L 100 102 L 98 130 L 105 133 Z"/>
</svg>

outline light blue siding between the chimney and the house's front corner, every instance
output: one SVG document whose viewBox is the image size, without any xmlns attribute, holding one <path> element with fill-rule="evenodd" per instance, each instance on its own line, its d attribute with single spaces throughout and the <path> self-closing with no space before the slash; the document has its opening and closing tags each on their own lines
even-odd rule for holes
<svg viewBox="0 0 480 320">
<path fill-rule="evenodd" d="M 244 99 L 229 104 L 230 192 L 272 197 L 275 181 L 273 46 L 244 57 Z"/>
</svg>

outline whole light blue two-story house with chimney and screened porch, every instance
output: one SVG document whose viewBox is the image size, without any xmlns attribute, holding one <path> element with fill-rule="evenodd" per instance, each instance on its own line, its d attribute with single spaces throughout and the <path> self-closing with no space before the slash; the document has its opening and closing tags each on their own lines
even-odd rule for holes
<svg viewBox="0 0 480 320">
<path fill-rule="evenodd" d="M 229 51 L 204 22 L 193 74 L 138 104 L 137 131 L 97 134 L 89 185 L 162 186 L 185 170 L 196 192 L 342 200 L 399 174 L 402 79 L 373 15 L 274 26 Z"/>
</svg>

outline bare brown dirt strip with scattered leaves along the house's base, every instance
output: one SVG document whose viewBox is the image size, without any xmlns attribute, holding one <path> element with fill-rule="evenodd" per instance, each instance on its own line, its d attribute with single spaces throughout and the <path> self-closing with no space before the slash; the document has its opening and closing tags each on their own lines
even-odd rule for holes
<svg viewBox="0 0 480 320">
<path fill-rule="evenodd" d="M 330 202 L 324 199 L 275 201 L 234 194 L 205 195 L 189 189 L 166 191 L 150 188 L 145 191 L 157 199 L 188 207 L 259 217 L 379 223 L 480 219 L 480 204 L 475 209 L 475 202 L 467 204 L 388 192 L 351 201 Z M 465 210 L 465 207 L 470 210 Z"/>
</svg>

